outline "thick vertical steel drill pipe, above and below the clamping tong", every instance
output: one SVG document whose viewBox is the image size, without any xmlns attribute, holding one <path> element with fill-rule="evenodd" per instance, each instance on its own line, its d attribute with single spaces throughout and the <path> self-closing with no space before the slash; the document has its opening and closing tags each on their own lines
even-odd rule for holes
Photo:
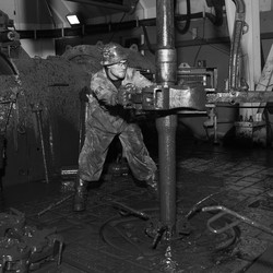
<svg viewBox="0 0 273 273">
<path fill-rule="evenodd" d="M 156 1 L 156 83 L 176 84 L 177 57 L 174 33 L 174 0 Z M 159 153 L 161 222 L 173 234 L 176 224 L 176 129 L 177 115 L 156 119 Z"/>
</svg>

